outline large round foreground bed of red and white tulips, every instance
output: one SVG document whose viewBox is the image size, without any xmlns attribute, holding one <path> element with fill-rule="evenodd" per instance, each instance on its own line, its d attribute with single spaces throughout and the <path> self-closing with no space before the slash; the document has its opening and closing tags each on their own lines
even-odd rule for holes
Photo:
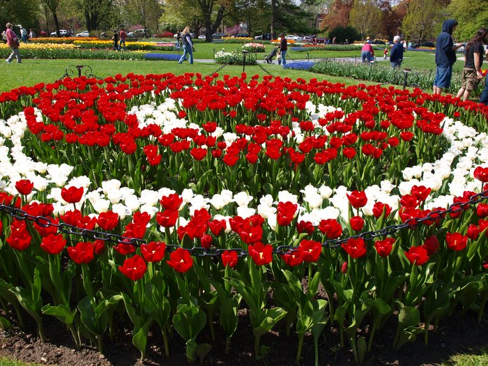
<svg viewBox="0 0 488 366">
<path fill-rule="evenodd" d="M 42 340 L 55 317 L 102 352 L 123 322 L 142 357 L 157 328 L 192 361 L 215 326 L 229 351 L 245 307 L 254 356 L 282 322 L 296 362 L 309 340 L 318 364 L 326 326 L 361 362 L 388 319 L 399 348 L 452 312 L 482 317 L 486 107 L 193 73 L 63 79 L 0 103 L 4 327 L 28 314 Z"/>
</svg>

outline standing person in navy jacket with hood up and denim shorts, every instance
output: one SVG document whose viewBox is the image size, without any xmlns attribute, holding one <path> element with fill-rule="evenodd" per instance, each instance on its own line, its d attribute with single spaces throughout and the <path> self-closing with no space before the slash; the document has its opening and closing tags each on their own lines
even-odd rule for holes
<svg viewBox="0 0 488 366">
<path fill-rule="evenodd" d="M 436 40 L 436 77 L 434 79 L 434 94 L 441 94 L 442 89 L 449 88 L 451 84 L 452 65 L 456 62 L 456 51 L 462 43 L 454 44 L 452 32 L 455 31 L 457 21 L 445 20 L 442 31 Z"/>
</svg>

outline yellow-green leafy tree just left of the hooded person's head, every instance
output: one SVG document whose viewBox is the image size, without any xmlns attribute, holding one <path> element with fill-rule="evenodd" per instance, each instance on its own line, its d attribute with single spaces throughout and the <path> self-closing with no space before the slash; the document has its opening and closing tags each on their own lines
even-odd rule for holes
<svg viewBox="0 0 488 366">
<path fill-rule="evenodd" d="M 444 15 L 437 0 L 411 0 L 402 22 L 402 32 L 409 39 L 434 38 L 434 31 Z"/>
</svg>

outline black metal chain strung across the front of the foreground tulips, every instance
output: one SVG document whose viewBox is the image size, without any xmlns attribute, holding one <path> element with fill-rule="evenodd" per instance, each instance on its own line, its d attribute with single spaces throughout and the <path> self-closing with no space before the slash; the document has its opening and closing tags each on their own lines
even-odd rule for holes
<svg viewBox="0 0 488 366">
<path fill-rule="evenodd" d="M 441 220 L 442 218 L 444 218 L 447 213 L 457 213 L 459 211 L 463 211 L 466 206 L 470 204 L 478 204 L 487 198 L 488 198 L 488 190 L 485 190 L 483 192 L 473 195 L 467 201 L 455 202 L 454 204 L 450 205 L 448 208 L 446 208 L 443 211 L 441 210 L 431 211 L 430 213 L 428 213 L 422 218 L 410 218 L 409 220 L 406 220 L 402 224 L 390 225 L 376 231 L 365 231 L 357 235 L 349 236 L 349 238 L 330 239 L 328 241 L 323 242 L 322 247 L 327 249 L 335 249 L 340 247 L 342 243 L 346 243 L 347 241 L 349 241 L 349 239 L 362 238 L 365 241 L 369 241 L 381 236 L 388 236 L 388 235 L 395 234 L 395 232 L 402 229 L 406 229 L 406 228 L 411 229 L 413 227 L 422 224 L 422 222 L 425 221 L 436 222 L 437 220 Z M 11 215 L 13 218 L 17 220 L 32 221 L 38 224 L 40 227 L 56 227 L 58 231 L 64 234 L 71 234 L 76 236 L 82 236 L 84 238 L 91 238 L 94 240 L 101 240 L 101 241 L 117 243 L 117 244 L 120 243 L 130 244 L 135 246 L 140 246 L 142 244 L 147 243 L 144 239 L 128 238 L 118 234 L 112 234 L 103 231 L 82 229 L 66 223 L 56 224 L 54 222 L 51 222 L 50 218 L 46 218 L 44 216 L 34 216 L 29 213 L 26 213 L 26 211 L 22 211 L 20 208 L 6 206 L 4 204 L 0 204 L 0 211 L 3 211 L 4 213 Z M 173 252 L 174 250 L 180 248 L 181 246 L 167 244 L 166 247 L 168 252 Z M 250 255 L 247 250 L 244 250 L 243 248 L 239 248 L 239 247 L 229 248 L 229 249 L 218 249 L 218 248 L 207 249 L 205 247 L 192 247 L 192 248 L 183 248 L 183 249 L 188 250 L 188 252 L 190 252 L 190 254 L 192 254 L 194 257 L 218 257 L 223 252 L 227 252 L 229 250 L 234 250 L 235 252 L 237 252 L 237 257 L 245 257 Z M 298 247 L 293 247 L 292 245 L 280 245 L 278 247 L 273 248 L 273 254 L 278 254 L 278 255 L 291 254 L 296 251 L 298 251 Z"/>
</svg>

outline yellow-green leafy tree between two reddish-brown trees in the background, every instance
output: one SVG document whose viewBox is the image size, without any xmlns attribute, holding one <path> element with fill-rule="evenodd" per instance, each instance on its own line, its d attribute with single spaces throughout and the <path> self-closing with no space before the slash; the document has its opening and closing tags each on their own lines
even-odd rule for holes
<svg viewBox="0 0 488 366">
<path fill-rule="evenodd" d="M 374 0 L 355 0 L 349 17 L 351 25 L 358 29 L 363 39 L 380 29 L 382 13 Z"/>
</svg>

